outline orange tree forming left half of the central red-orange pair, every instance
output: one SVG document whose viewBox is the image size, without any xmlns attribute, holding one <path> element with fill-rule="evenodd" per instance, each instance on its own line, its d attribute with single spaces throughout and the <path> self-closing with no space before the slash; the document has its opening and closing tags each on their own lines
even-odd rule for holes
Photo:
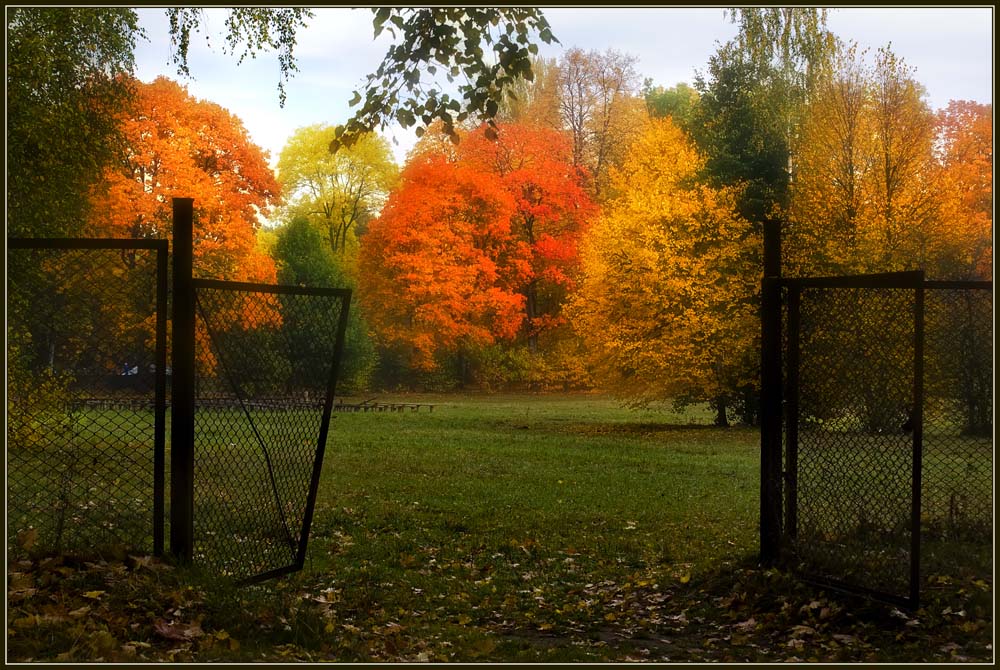
<svg viewBox="0 0 1000 670">
<path fill-rule="evenodd" d="M 418 154 L 362 238 L 359 292 L 376 341 L 417 369 L 514 338 L 530 249 L 489 173 Z"/>
</svg>

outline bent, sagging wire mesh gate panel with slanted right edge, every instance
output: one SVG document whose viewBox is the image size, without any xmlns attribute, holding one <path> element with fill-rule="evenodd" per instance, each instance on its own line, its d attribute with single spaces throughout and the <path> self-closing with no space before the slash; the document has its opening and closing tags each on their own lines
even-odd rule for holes
<svg viewBox="0 0 1000 670">
<path fill-rule="evenodd" d="M 301 568 L 350 293 L 195 282 L 194 559 Z"/>
</svg>

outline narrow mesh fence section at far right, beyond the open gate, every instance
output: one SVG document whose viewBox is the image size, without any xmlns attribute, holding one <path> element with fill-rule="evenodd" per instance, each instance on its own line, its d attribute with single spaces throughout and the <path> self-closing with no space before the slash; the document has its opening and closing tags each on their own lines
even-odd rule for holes
<svg viewBox="0 0 1000 670">
<path fill-rule="evenodd" d="M 926 291 L 922 564 L 989 575 L 993 545 L 993 292 Z"/>
</svg>

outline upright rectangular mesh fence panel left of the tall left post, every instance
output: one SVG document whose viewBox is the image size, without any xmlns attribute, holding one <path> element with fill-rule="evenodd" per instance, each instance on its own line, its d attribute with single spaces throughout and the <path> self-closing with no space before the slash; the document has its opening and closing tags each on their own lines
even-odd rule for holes
<svg viewBox="0 0 1000 670">
<path fill-rule="evenodd" d="M 159 553 L 166 242 L 8 240 L 8 556 Z"/>
</svg>

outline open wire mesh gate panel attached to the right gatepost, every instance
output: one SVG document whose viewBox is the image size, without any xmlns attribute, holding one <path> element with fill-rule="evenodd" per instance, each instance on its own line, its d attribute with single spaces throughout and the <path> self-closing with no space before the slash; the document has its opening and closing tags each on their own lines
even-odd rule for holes
<svg viewBox="0 0 1000 670">
<path fill-rule="evenodd" d="M 790 289 L 786 549 L 814 579 L 914 597 L 917 292 Z"/>
</svg>

